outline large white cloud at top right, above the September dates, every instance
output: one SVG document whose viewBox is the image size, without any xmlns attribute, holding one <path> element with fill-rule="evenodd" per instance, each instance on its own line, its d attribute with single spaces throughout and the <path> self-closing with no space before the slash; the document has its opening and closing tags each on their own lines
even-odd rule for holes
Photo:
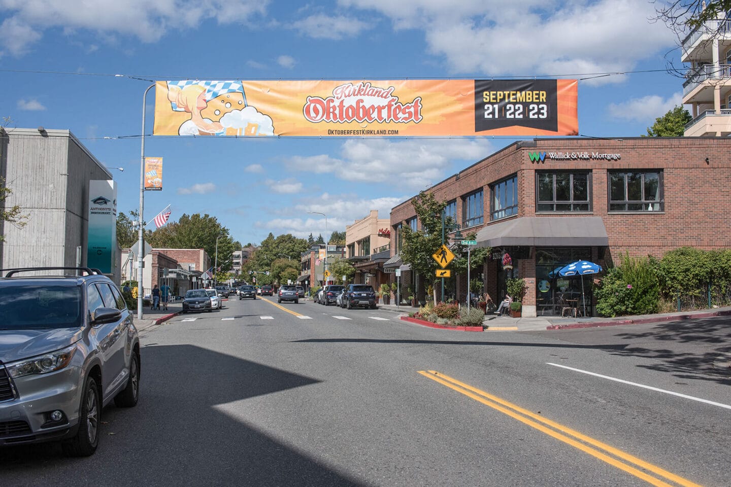
<svg viewBox="0 0 731 487">
<path fill-rule="evenodd" d="M 523 76 L 625 72 L 674 45 L 652 2 L 632 0 L 341 0 L 375 9 L 394 28 L 422 28 L 429 50 L 455 73 Z M 622 76 L 589 84 L 618 83 Z"/>
</svg>

